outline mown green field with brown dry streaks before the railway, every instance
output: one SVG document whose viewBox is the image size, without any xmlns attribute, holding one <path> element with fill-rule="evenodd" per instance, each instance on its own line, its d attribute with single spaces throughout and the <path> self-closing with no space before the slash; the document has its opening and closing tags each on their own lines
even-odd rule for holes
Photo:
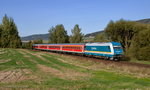
<svg viewBox="0 0 150 90">
<path fill-rule="evenodd" d="M 150 68 L 1 48 L 0 89 L 150 90 Z"/>
</svg>

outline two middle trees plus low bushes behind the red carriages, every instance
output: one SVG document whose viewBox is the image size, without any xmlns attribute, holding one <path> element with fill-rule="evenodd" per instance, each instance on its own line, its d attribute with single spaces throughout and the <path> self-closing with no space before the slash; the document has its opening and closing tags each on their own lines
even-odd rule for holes
<svg viewBox="0 0 150 90">
<path fill-rule="evenodd" d="M 81 28 L 78 24 L 74 26 L 71 30 L 72 34 L 69 36 L 67 30 L 65 30 L 62 24 L 51 27 L 49 30 L 49 42 L 50 44 L 58 43 L 83 43 L 84 35 L 81 32 Z M 28 43 L 23 43 L 22 47 L 31 49 L 33 44 L 42 44 L 42 39 L 37 39 L 29 41 Z"/>
</svg>

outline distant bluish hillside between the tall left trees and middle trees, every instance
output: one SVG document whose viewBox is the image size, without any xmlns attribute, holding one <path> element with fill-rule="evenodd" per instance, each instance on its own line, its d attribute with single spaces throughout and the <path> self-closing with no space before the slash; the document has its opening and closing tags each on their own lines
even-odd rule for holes
<svg viewBox="0 0 150 90">
<path fill-rule="evenodd" d="M 22 41 L 29 41 L 29 40 L 36 40 L 36 39 L 43 39 L 48 40 L 49 34 L 34 34 L 26 37 L 21 37 Z"/>
</svg>

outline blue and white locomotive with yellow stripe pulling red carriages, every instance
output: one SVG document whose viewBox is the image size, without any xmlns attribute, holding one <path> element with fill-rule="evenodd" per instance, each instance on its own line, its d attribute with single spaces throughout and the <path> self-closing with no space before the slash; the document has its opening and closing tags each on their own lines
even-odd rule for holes
<svg viewBox="0 0 150 90">
<path fill-rule="evenodd" d="M 123 49 L 118 42 L 86 43 L 84 54 L 119 60 L 123 56 Z"/>
</svg>

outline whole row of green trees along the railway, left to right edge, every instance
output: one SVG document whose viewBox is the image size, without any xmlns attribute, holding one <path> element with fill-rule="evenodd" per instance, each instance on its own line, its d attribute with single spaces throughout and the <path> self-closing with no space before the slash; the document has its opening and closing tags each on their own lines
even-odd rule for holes
<svg viewBox="0 0 150 90">
<path fill-rule="evenodd" d="M 69 36 L 62 24 L 49 29 L 49 43 L 83 43 L 84 35 L 76 24 Z M 138 22 L 118 20 L 110 21 L 103 33 L 92 42 L 116 41 L 122 44 L 125 55 L 138 60 L 150 58 L 150 25 Z M 0 24 L 0 48 L 32 48 L 32 44 L 43 43 L 42 39 L 22 43 L 17 26 L 12 18 L 5 15 Z"/>
</svg>

